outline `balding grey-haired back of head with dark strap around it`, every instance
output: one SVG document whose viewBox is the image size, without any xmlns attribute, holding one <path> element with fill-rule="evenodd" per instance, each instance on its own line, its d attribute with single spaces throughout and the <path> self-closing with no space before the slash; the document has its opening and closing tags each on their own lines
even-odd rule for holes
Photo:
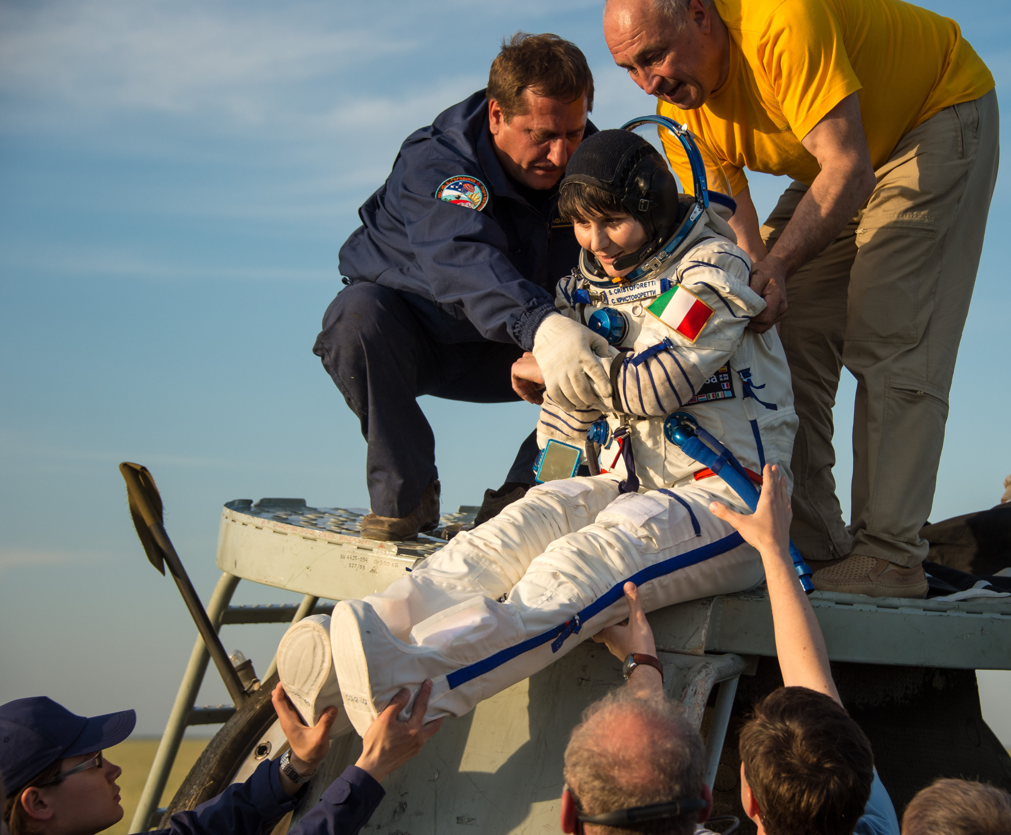
<svg viewBox="0 0 1011 835">
<path fill-rule="evenodd" d="M 565 749 L 565 783 L 584 815 L 699 798 L 705 778 L 702 737 L 674 704 L 642 698 L 628 687 L 583 714 Z M 601 827 L 607 835 L 688 835 L 696 816 Z M 587 832 L 596 830 L 585 825 Z"/>
</svg>

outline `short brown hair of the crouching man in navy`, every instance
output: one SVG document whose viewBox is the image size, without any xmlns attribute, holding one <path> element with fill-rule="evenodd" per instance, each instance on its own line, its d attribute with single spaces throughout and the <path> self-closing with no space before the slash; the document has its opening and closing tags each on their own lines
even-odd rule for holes
<svg viewBox="0 0 1011 835">
<path fill-rule="evenodd" d="M 505 119 L 526 112 L 524 93 L 558 101 L 586 97 L 586 109 L 593 109 L 593 74 L 586 57 L 570 40 L 557 34 L 517 32 L 491 62 L 488 98 L 502 108 Z"/>
</svg>

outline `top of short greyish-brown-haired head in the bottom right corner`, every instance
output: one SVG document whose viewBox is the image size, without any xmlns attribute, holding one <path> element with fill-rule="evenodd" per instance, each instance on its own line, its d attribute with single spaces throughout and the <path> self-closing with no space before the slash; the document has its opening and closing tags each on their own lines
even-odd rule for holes
<svg viewBox="0 0 1011 835">
<path fill-rule="evenodd" d="M 902 816 L 902 835 L 1008 835 L 1011 795 L 970 780 L 940 779 L 921 789 Z"/>
</svg>

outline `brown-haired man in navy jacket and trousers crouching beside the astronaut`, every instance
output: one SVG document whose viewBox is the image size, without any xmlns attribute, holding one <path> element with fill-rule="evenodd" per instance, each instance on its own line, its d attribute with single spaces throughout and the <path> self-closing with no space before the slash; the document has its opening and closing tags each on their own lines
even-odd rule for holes
<svg viewBox="0 0 1011 835">
<path fill-rule="evenodd" d="M 519 399 L 510 368 L 533 349 L 554 313 L 555 284 L 578 259 L 572 227 L 558 217 L 558 182 L 595 131 L 592 103 L 575 45 L 517 33 L 492 63 L 487 90 L 411 134 L 359 211 L 362 226 L 341 249 L 348 286 L 327 310 L 313 352 L 368 441 L 363 536 L 412 538 L 439 522 L 435 438 L 419 395 Z M 561 347 L 545 383 L 576 400 L 599 364 L 592 352 L 607 346 L 551 318 Z M 507 483 L 485 494 L 482 515 L 523 495 L 536 453 L 532 435 Z"/>
</svg>

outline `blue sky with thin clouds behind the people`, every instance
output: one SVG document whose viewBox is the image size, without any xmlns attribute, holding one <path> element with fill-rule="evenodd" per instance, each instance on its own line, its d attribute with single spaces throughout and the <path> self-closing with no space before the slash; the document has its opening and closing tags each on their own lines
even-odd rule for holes
<svg viewBox="0 0 1011 835">
<path fill-rule="evenodd" d="M 928 5 L 960 22 L 1001 92 L 1006 4 Z M 311 354 L 355 212 L 402 139 L 482 87 L 517 29 L 583 49 L 599 126 L 650 112 L 611 62 L 600 13 L 577 0 L 0 4 L 0 701 L 134 706 L 139 733 L 163 727 L 194 630 L 143 556 L 120 461 L 155 474 L 204 596 L 224 501 L 368 504 L 364 441 Z M 934 519 L 994 504 L 1011 472 L 1007 183 L 959 352 Z M 753 179 L 760 213 L 785 185 Z M 841 484 L 851 404 L 845 381 Z M 497 486 L 536 419 L 526 404 L 423 405 L 445 508 Z M 288 598 L 246 584 L 237 601 Z M 223 635 L 262 671 L 280 630 Z M 1011 741 L 996 711 L 1006 680 L 990 676 L 984 695 Z M 214 681 L 201 695 L 224 698 Z"/>
</svg>

